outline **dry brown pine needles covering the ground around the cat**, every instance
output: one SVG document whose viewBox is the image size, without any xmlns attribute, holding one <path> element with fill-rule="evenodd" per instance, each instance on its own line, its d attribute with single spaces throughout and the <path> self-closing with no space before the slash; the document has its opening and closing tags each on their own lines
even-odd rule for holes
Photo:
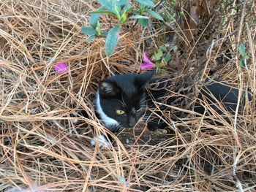
<svg viewBox="0 0 256 192">
<path fill-rule="evenodd" d="M 142 50 L 151 55 L 172 43 L 177 50 L 167 74 L 203 79 L 211 73 L 256 95 L 255 1 L 197 3 L 173 7 L 187 20 L 154 20 L 145 29 L 127 23 L 107 59 L 105 39 L 86 43 L 80 34 L 95 1 L 1 0 L 0 191 L 255 191 L 255 98 L 242 115 L 211 117 L 218 123 L 192 114 L 176 120 L 165 112 L 170 130 L 154 145 L 126 145 L 115 136 L 114 147 L 90 145 L 106 131 L 92 107 L 97 83 L 110 74 L 139 72 Z M 101 22 L 108 29 L 115 20 L 103 15 Z M 239 42 L 249 55 L 248 69 L 239 66 Z M 67 63 L 69 72 L 57 74 L 56 61 Z M 87 115 L 74 123 L 70 113 L 77 110 Z"/>
</svg>

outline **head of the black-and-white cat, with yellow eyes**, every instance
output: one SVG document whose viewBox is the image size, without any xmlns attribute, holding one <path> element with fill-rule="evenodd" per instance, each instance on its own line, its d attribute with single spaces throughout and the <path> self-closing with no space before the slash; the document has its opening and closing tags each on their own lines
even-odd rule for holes
<svg viewBox="0 0 256 192">
<path fill-rule="evenodd" d="M 135 126 L 146 110 L 145 86 L 153 74 L 121 74 L 99 82 L 95 105 L 105 126 Z"/>
</svg>

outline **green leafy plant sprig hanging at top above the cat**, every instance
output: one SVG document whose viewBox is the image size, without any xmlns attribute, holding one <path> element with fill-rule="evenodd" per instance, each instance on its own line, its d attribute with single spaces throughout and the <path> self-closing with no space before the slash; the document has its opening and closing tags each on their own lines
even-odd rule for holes
<svg viewBox="0 0 256 192">
<path fill-rule="evenodd" d="M 154 3 L 152 0 L 136 0 L 137 7 L 132 7 L 127 0 L 98 0 L 101 6 L 94 12 L 91 12 L 90 26 L 84 26 L 81 28 L 83 34 L 89 35 L 86 42 L 91 41 L 94 37 L 106 37 L 105 41 L 105 53 L 108 57 L 113 54 L 113 51 L 118 42 L 118 34 L 121 30 L 121 26 L 131 19 L 138 20 L 141 26 L 145 27 L 149 18 L 148 15 L 158 20 L 163 18 L 154 12 L 152 8 Z M 110 28 L 108 32 L 102 32 L 99 23 L 100 14 L 113 15 L 118 20 L 118 23 Z M 129 14 L 132 14 L 129 16 Z"/>
</svg>

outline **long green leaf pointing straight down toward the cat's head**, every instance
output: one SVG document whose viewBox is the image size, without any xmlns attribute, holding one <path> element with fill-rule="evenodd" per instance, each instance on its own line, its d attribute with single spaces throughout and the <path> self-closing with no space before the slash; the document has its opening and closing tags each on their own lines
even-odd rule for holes
<svg viewBox="0 0 256 192">
<path fill-rule="evenodd" d="M 116 44 L 118 42 L 118 34 L 120 31 L 120 26 L 113 26 L 113 28 L 108 31 L 108 36 L 105 42 L 105 53 L 108 57 L 113 54 Z"/>
</svg>

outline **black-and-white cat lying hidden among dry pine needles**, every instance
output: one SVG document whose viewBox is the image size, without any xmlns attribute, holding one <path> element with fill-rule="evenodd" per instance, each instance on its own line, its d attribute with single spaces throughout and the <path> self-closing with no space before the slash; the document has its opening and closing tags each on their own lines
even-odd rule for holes
<svg viewBox="0 0 256 192">
<path fill-rule="evenodd" d="M 168 105 L 181 103 L 191 91 L 185 90 L 179 95 L 167 96 L 166 87 L 171 85 L 172 78 L 154 78 L 153 75 L 154 72 L 118 74 L 99 82 L 94 107 L 99 120 L 106 128 L 112 132 L 118 131 L 121 127 L 132 128 L 140 118 L 147 121 L 150 131 L 167 126 L 159 118 L 161 114 L 152 114 L 147 109 L 154 107 L 154 101 L 165 100 L 165 104 Z M 239 93 L 237 88 L 232 88 L 219 79 L 206 79 L 205 83 L 206 85 L 203 85 L 197 95 L 194 112 L 204 114 L 206 110 L 200 102 L 202 100 L 208 101 L 212 109 L 219 114 L 222 114 L 222 110 L 217 105 L 219 102 L 227 111 L 231 113 L 236 111 Z M 150 85 L 153 85 L 153 88 L 150 88 Z M 244 100 L 244 94 L 242 100 Z M 249 96 L 249 100 L 252 100 L 252 96 Z"/>
</svg>

